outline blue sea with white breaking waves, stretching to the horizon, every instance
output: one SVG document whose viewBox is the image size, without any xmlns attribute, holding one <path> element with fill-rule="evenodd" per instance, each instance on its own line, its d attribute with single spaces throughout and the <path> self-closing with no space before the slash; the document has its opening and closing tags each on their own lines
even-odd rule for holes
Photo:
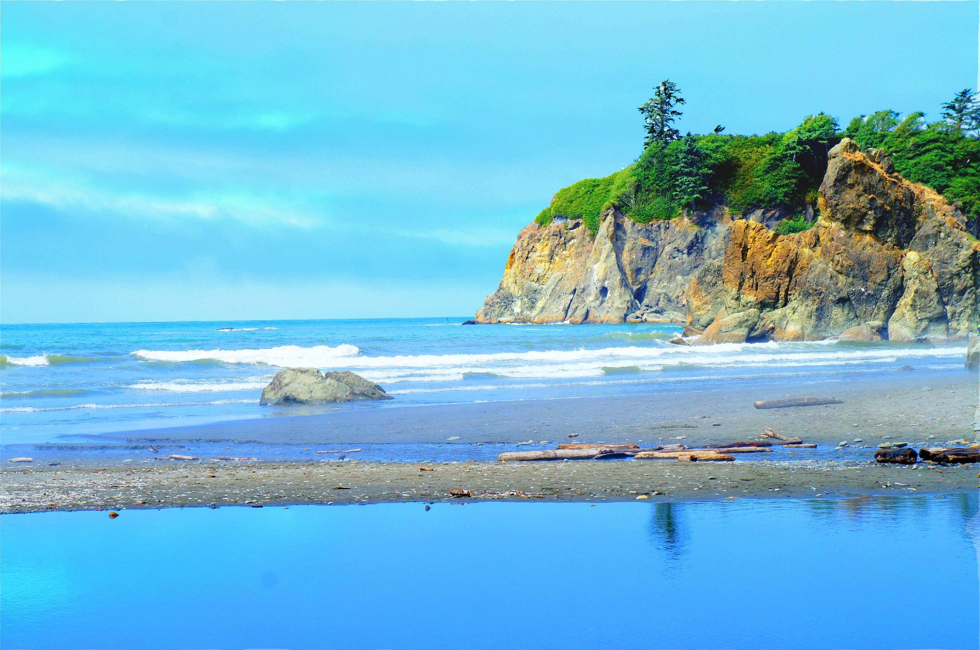
<svg viewBox="0 0 980 650">
<path fill-rule="evenodd" d="M 396 397 L 386 405 L 404 405 L 650 393 L 762 374 L 819 381 L 906 364 L 956 371 L 965 351 L 832 341 L 688 348 L 666 343 L 680 332 L 673 324 L 462 320 L 3 325 L 0 436 L 41 442 L 279 415 L 259 395 L 288 366 L 353 370 Z"/>
</svg>

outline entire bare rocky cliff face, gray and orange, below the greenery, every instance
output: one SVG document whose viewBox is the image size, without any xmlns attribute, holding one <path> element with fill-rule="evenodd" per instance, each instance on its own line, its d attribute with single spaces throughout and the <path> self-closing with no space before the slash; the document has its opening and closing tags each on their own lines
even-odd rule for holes
<svg viewBox="0 0 980 650">
<path fill-rule="evenodd" d="M 939 194 L 845 139 L 819 209 L 811 229 L 783 236 L 766 211 L 732 220 L 724 208 L 650 224 L 608 210 L 594 239 L 578 222 L 532 224 L 476 319 L 683 319 L 705 328 L 703 343 L 847 331 L 917 340 L 976 327 L 980 243 Z"/>
</svg>

